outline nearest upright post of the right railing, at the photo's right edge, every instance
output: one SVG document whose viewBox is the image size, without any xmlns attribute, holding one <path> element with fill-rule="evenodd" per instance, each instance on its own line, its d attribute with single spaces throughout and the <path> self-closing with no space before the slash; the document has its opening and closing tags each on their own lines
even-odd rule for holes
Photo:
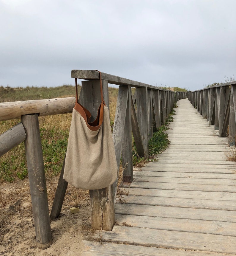
<svg viewBox="0 0 236 256">
<path fill-rule="evenodd" d="M 231 85 L 230 94 L 230 111 L 229 111 L 229 146 L 235 146 L 235 134 L 236 134 L 236 123 L 235 123 L 235 106 L 236 106 L 236 86 Z"/>
</svg>

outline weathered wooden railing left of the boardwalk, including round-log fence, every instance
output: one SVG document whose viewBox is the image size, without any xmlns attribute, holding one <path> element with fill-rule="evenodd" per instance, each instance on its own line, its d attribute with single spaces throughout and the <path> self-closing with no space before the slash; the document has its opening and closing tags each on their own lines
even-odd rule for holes
<svg viewBox="0 0 236 256">
<path fill-rule="evenodd" d="M 87 80 L 82 81 L 79 103 L 84 105 L 94 118 L 101 102 L 99 72 L 72 70 L 71 77 Z M 119 85 L 113 140 L 118 167 L 122 154 L 123 181 L 131 182 L 133 180 L 132 134 L 139 156 L 147 156 L 148 141 L 153 132 L 165 123 L 174 103 L 187 97 L 187 94 L 174 93 L 106 73 L 101 73 L 101 77 L 103 97 L 108 108 L 108 83 Z M 136 87 L 134 95 L 131 94 L 131 87 Z M 40 248 L 47 248 L 52 243 L 50 219 L 57 218 L 61 212 L 67 182 L 63 179 L 63 164 L 49 218 L 38 116 L 71 113 L 74 105 L 74 97 L 0 103 L 0 121 L 21 117 L 19 124 L 0 135 L 0 156 L 19 143 L 25 142 L 36 241 Z M 109 187 L 89 191 L 93 228 L 112 229 L 115 222 L 116 193 L 117 181 Z"/>
</svg>

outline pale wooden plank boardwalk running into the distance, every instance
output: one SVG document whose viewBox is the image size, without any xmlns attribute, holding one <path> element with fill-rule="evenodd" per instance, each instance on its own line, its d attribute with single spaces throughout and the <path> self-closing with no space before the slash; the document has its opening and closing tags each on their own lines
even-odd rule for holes
<svg viewBox="0 0 236 256">
<path fill-rule="evenodd" d="M 218 138 L 188 99 L 177 105 L 169 148 L 159 162 L 134 171 L 123 188 L 126 203 L 116 204 L 118 225 L 97 232 L 103 245 L 84 241 L 82 255 L 236 255 L 236 165 L 224 154 L 228 139 Z"/>
</svg>

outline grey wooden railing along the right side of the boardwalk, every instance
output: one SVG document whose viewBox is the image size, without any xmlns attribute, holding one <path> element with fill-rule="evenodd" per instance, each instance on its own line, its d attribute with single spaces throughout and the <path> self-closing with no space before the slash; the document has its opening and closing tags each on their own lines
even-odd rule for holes
<svg viewBox="0 0 236 256">
<path fill-rule="evenodd" d="M 188 99 L 209 125 L 215 125 L 219 137 L 228 136 L 229 146 L 235 146 L 236 81 L 190 91 Z"/>
</svg>

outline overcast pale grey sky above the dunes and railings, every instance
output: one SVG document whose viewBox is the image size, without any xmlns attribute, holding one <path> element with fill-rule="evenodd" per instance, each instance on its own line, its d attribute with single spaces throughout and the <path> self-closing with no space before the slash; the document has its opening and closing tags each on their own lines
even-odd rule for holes
<svg viewBox="0 0 236 256">
<path fill-rule="evenodd" d="M 72 69 L 190 90 L 236 76 L 235 0 L 0 0 L 0 86 Z"/>
</svg>

